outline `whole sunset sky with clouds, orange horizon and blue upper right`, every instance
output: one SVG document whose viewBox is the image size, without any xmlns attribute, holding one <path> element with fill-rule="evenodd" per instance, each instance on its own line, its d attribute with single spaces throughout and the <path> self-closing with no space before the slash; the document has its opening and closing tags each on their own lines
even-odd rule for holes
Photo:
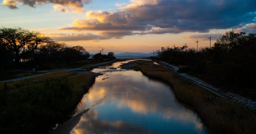
<svg viewBox="0 0 256 134">
<path fill-rule="evenodd" d="M 1 0 L 0 27 L 41 32 L 90 53 L 209 47 L 221 35 L 256 33 L 255 0 Z"/>
</svg>

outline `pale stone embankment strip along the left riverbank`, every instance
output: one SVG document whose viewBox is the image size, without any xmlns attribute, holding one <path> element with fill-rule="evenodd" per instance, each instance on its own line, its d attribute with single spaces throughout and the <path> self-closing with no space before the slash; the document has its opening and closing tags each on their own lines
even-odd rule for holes
<svg viewBox="0 0 256 134">
<path fill-rule="evenodd" d="M 108 61 L 108 62 L 103 62 L 103 63 L 99 63 L 99 64 L 94 64 L 92 65 L 92 67 L 100 67 L 100 66 L 104 66 L 104 65 L 108 65 L 111 63 L 116 62 L 114 61 Z M 66 70 L 62 70 L 62 72 L 73 72 L 73 71 L 87 71 L 87 69 L 83 69 L 84 67 L 78 67 L 78 68 L 72 68 L 72 69 L 66 69 Z M 57 71 L 58 72 L 58 71 Z M 55 72 L 50 72 L 50 73 L 44 73 L 44 74 L 38 74 L 38 75 L 31 75 L 31 76 L 27 76 L 27 77 L 21 77 L 21 78 L 16 78 L 16 79 L 11 79 L 11 80 L 5 80 L 5 81 L 0 81 L 0 82 L 11 82 L 11 81 L 19 81 L 19 80 L 23 80 L 23 79 L 27 79 L 27 78 L 31 78 L 31 77 L 36 77 L 36 76 L 41 76 L 41 75 L 48 75 L 48 74 L 52 74 Z"/>
</svg>

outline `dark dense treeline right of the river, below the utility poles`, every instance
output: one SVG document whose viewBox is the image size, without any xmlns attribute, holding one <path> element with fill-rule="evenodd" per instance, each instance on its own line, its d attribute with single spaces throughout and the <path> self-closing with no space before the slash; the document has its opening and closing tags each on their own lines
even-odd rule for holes
<svg viewBox="0 0 256 134">
<path fill-rule="evenodd" d="M 195 75 L 214 85 L 233 91 L 256 89 L 256 34 L 227 32 L 213 47 L 166 49 L 159 56 L 179 72 Z M 254 90 L 252 90 L 254 89 Z"/>
</svg>

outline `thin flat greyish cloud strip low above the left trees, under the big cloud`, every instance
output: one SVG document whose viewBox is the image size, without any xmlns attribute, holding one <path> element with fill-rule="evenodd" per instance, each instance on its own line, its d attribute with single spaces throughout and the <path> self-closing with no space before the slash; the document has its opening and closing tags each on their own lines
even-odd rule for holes
<svg viewBox="0 0 256 134">
<path fill-rule="evenodd" d="M 80 41 L 80 40 L 105 40 L 109 39 L 108 36 L 87 34 L 48 34 L 54 41 Z"/>
</svg>

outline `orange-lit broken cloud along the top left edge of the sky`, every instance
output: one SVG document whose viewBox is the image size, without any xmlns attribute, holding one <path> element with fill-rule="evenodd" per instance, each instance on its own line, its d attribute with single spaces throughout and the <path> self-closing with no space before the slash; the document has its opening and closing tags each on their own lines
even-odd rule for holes
<svg viewBox="0 0 256 134">
<path fill-rule="evenodd" d="M 61 12 L 86 12 L 83 9 L 84 4 L 89 4 L 92 0 L 3 0 L 3 5 L 8 6 L 11 9 L 18 8 L 17 4 L 28 5 L 30 7 L 35 7 L 36 4 L 56 4 L 53 8 L 56 11 Z"/>
</svg>

